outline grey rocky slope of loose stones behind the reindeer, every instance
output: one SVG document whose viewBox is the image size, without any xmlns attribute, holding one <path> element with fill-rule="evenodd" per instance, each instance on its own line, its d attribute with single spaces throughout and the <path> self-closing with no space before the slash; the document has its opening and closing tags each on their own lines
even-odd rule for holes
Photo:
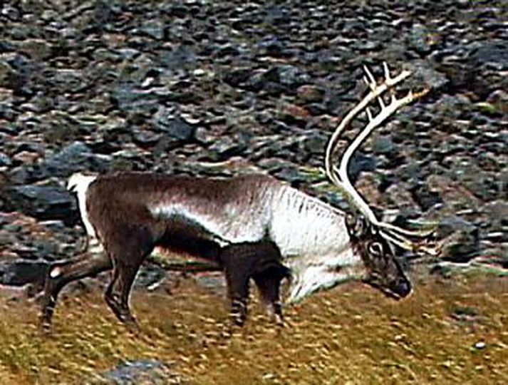
<svg viewBox="0 0 508 385">
<path fill-rule="evenodd" d="M 508 267 L 506 4 L 334 3 L 2 2 L 0 282 L 81 247 L 78 170 L 259 170 L 343 205 L 324 145 L 382 61 L 432 91 L 363 146 L 356 186 L 439 221 L 444 260 Z"/>
</svg>

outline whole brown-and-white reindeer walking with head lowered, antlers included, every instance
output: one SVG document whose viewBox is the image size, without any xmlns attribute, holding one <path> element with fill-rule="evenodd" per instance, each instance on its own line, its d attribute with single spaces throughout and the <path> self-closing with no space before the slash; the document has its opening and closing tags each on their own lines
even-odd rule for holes
<svg viewBox="0 0 508 385">
<path fill-rule="evenodd" d="M 51 322 L 61 289 L 75 279 L 112 270 L 105 302 L 120 322 L 136 325 L 129 296 L 135 275 L 155 247 L 205 258 L 225 272 L 232 319 L 247 317 L 249 280 L 278 322 L 282 320 L 281 281 L 289 278 L 287 302 L 351 280 L 361 280 L 395 299 L 408 296 L 410 280 L 395 257 L 403 250 L 436 254 L 426 239 L 432 230 L 405 230 L 378 220 L 348 178 L 351 156 L 368 135 L 398 108 L 421 93 L 396 98 L 394 86 L 410 76 L 390 76 L 377 83 L 368 68 L 370 91 L 341 121 L 328 142 L 325 173 L 346 194 L 352 214 L 302 193 L 267 175 L 229 179 L 191 178 L 155 173 L 72 175 L 68 190 L 76 193 L 90 240 L 88 252 L 54 262 L 48 270 L 41 323 Z M 390 103 L 383 95 L 390 92 Z M 377 99 L 378 113 L 369 105 Z M 338 138 L 358 113 L 368 124 L 346 148 L 338 168 L 333 164 Z M 419 239 L 419 240 L 418 240 Z"/>
</svg>

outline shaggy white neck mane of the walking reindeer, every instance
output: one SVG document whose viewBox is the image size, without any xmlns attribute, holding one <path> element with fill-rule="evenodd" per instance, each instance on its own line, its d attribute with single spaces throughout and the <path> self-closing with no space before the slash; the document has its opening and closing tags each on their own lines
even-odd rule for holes
<svg viewBox="0 0 508 385">
<path fill-rule="evenodd" d="M 288 302 L 363 277 L 363 261 L 351 248 L 344 212 L 288 187 L 274 199 L 269 235 L 293 276 Z"/>
</svg>

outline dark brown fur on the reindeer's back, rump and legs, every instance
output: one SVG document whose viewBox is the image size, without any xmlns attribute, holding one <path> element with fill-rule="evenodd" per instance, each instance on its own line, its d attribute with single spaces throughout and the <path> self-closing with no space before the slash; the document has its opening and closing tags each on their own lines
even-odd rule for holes
<svg viewBox="0 0 508 385">
<path fill-rule="evenodd" d="M 155 247 L 187 252 L 222 266 L 235 323 L 242 324 L 246 317 L 251 278 L 281 319 L 279 285 L 289 271 L 281 265 L 276 245 L 260 241 L 221 247 L 199 224 L 185 217 L 158 218 L 149 209 L 152 202 L 192 197 L 205 210 L 221 210 L 235 199 L 256 199 L 256 192 L 273 183 L 276 180 L 262 175 L 213 180 L 123 173 L 98 178 L 90 185 L 86 202 L 90 222 L 105 252 L 98 256 L 85 253 L 53 265 L 46 279 L 41 321 L 45 325 L 51 322 L 58 293 L 68 282 L 113 268 L 105 301 L 121 322 L 135 324 L 128 304 L 130 289 L 140 265 Z M 239 195 L 239 190 L 244 193 Z"/>
</svg>

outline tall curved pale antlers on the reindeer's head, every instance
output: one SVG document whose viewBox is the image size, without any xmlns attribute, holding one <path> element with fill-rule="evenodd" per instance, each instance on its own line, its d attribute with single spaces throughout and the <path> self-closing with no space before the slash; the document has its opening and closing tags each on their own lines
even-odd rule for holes
<svg viewBox="0 0 508 385">
<path fill-rule="evenodd" d="M 366 219 L 372 223 L 373 225 L 380 228 L 380 234 L 385 237 L 386 240 L 403 247 L 406 250 L 421 250 L 427 254 L 436 255 L 437 250 L 434 247 L 427 247 L 425 245 L 421 245 L 419 243 L 412 242 L 408 237 L 420 237 L 425 238 L 432 234 L 434 229 L 432 230 L 406 230 L 402 227 L 398 227 L 395 225 L 391 225 L 387 222 L 381 222 L 375 216 L 374 212 L 370 209 L 368 203 L 363 200 L 363 197 L 358 193 L 358 191 L 353 187 L 351 181 L 348 177 L 348 164 L 351 160 L 351 156 L 358 149 L 358 147 L 363 143 L 368 135 L 372 133 L 372 131 L 381 125 L 389 116 L 393 115 L 398 108 L 405 106 L 416 99 L 424 96 L 429 90 L 425 88 L 423 91 L 419 93 L 413 93 L 413 91 L 409 91 L 406 96 L 403 98 L 396 98 L 395 94 L 392 92 L 390 97 L 390 103 L 388 106 L 385 105 L 383 101 L 383 94 L 387 91 L 393 91 L 393 87 L 398 83 L 403 81 L 405 78 L 411 75 L 410 71 L 402 71 L 398 74 L 398 76 L 392 77 L 390 76 L 390 71 L 388 70 L 388 65 L 383 63 L 383 69 L 385 73 L 385 79 L 382 83 L 378 84 L 375 81 L 373 74 L 368 70 L 366 66 L 363 67 L 366 72 L 366 76 L 363 77 L 363 80 L 367 83 L 370 88 L 370 92 L 358 103 L 355 107 L 349 111 L 345 118 L 341 121 L 341 124 L 338 125 L 333 135 L 331 135 L 330 140 L 328 141 L 328 146 L 326 148 L 325 155 L 325 171 L 328 178 L 332 183 L 341 188 L 348 196 L 351 198 L 352 204 L 358 208 L 358 210 L 365 215 Z M 377 115 L 373 116 L 368 105 L 374 100 L 377 99 L 380 111 Z M 339 136 L 343 132 L 343 130 L 351 123 L 351 120 L 355 118 L 358 113 L 362 111 L 366 111 L 368 117 L 368 124 L 363 130 L 354 138 L 351 145 L 346 148 L 343 156 L 341 158 L 341 163 L 339 168 L 335 168 L 332 165 L 332 157 L 333 153 L 336 150 L 336 145 Z"/>
</svg>

